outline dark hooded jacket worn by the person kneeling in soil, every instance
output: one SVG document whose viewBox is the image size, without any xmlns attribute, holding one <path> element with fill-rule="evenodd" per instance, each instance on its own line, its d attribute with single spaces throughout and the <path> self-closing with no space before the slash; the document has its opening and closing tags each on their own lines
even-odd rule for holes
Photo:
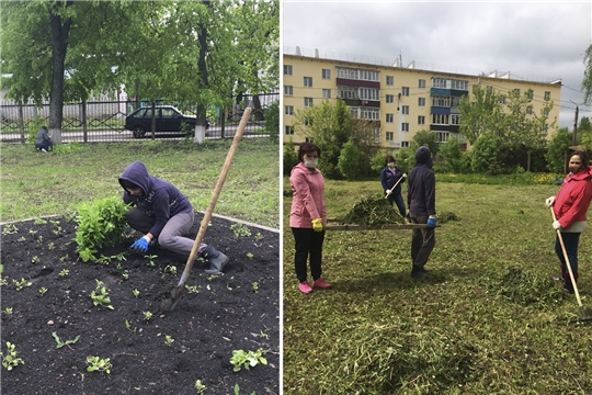
<svg viewBox="0 0 592 395">
<path fill-rule="evenodd" d="M 146 166 L 140 161 L 129 165 L 119 177 L 140 187 L 144 191 L 141 196 L 134 196 L 124 188 L 123 200 L 126 204 L 134 204 L 144 214 L 156 217 L 155 225 L 150 228 L 153 237 L 158 237 L 170 217 L 179 213 L 191 213 L 193 206 L 173 184 L 148 174 Z M 122 184 L 123 188 L 123 184 Z"/>
</svg>

